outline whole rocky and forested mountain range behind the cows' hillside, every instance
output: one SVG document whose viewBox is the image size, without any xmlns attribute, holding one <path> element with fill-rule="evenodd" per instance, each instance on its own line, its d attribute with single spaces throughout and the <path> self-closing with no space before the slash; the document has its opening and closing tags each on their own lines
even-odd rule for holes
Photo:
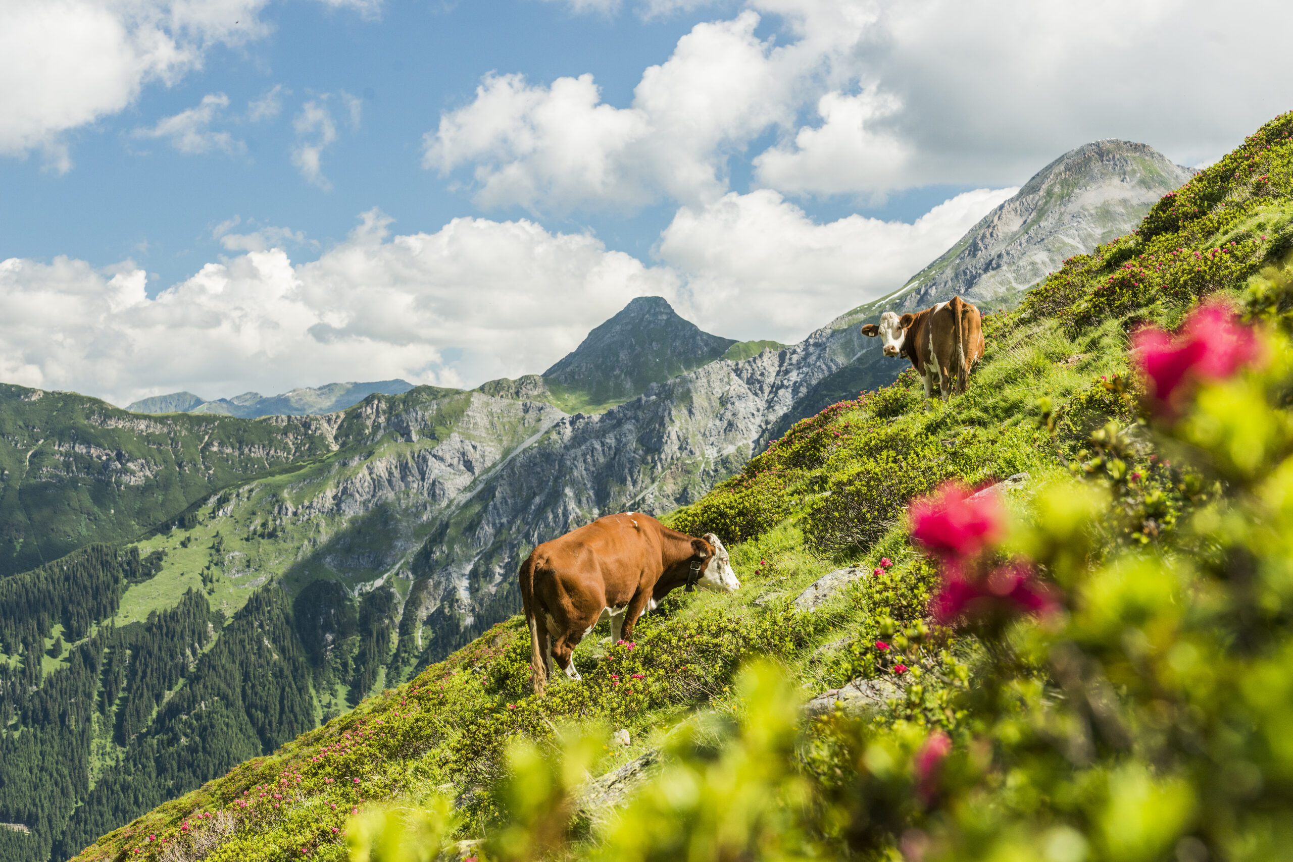
<svg viewBox="0 0 1293 862">
<path fill-rule="evenodd" d="M 905 363 L 859 323 L 953 293 L 1010 305 L 1187 176 L 1143 145 L 1078 147 L 903 288 L 790 346 L 641 297 L 544 373 L 471 392 L 175 393 L 128 412 L 0 385 L 0 585 L 31 584 L 12 606 L 0 591 L 0 822 L 35 836 L 9 854 L 28 839 L 0 830 L 0 857 L 66 858 L 407 678 L 516 611 L 539 541 L 692 503 L 795 420 L 890 383 Z M 75 604 L 22 604 L 59 591 Z M 69 658 L 91 631 L 120 632 L 102 672 Z"/>
</svg>

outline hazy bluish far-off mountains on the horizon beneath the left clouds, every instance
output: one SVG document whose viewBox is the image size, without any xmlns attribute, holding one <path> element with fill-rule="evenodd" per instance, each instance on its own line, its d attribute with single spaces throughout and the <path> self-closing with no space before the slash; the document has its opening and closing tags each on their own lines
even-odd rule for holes
<svg viewBox="0 0 1293 862">
<path fill-rule="evenodd" d="M 233 398 L 204 401 L 191 392 L 142 398 L 127 407 L 132 414 L 215 414 L 220 416 L 318 416 L 352 407 L 374 393 L 398 395 L 412 389 L 405 380 L 376 383 L 330 383 L 312 389 L 303 386 L 266 398 L 259 392 L 244 392 Z"/>
</svg>

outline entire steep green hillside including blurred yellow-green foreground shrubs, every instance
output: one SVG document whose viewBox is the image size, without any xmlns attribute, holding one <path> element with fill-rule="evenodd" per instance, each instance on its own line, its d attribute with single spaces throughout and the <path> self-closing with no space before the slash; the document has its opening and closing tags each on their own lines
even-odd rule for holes
<svg viewBox="0 0 1293 862">
<path fill-rule="evenodd" d="M 1287 410 L 1268 403 L 1288 403 L 1288 346 L 1272 341 L 1265 376 L 1204 386 L 1195 406 L 1140 389 L 1127 333 L 1175 326 L 1217 292 L 1293 330 L 1293 271 L 1280 269 L 1293 249 L 1290 136 L 1293 116 L 1277 118 L 1137 234 L 1071 258 L 994 315 L 966 395 L 922 403 L 904 375 L 795 424 L 675 512 L 680 529 L 729 543 L 738 593 L 675 594 L 635 644 L 595 631 L 575 653 L 583 681 L 542 699 L 528 694 L 521 622 L 499 624 L 78 858 L 341 859 L 344 832 L 366 844 L 372 830 L 392 841 L 412 830 L 418 858 L 446 835 L 489 836 L 477 848 L 489 858 L 544 846 L 877 858 L 899 845 L 931 858 L 1276 858 L 1293 690 L 1277 507 L 1293 468 Z M 1142 398 L 1153 419 L 1138 425 Z M 1027 553 L 1049 585 L 985 582 L 975 594 L 1071 611 L 1046 625 L 1007 625 L 1009 614 L 937 625 L 931 598 L 943 588 L 948 601 L 953 575 L 912 543 L 904 507 L 944 479 L 1018 473 L 1006 503 L 1024 527 L 1001 561 Z M 1271 476 L 1284 485 L 1256 485 Z M 1267 532 L 1245 532 L 1262 518 Z M 794 607 L 844 565 L 860 567 L 847 587 Z M 754 657 L 776 660 L 781 681 L 740 676 Z M 851 680 L 871 694 L 866 717 L 796 735 L 795 702 Z M 588 748 L 565 721 L 622 728 L 630 744 Z M 520 738 L 534 744 L 509 748 Z M 562 748 L 569 774 L 546 765 Z M 584 810 L 577 765 L 601 774 L 654 751 L 676 765 L 648 778 L 627 819 Z M 389 819 L 352 818 L 383 800 L 400 806 Z"/>
</svg>

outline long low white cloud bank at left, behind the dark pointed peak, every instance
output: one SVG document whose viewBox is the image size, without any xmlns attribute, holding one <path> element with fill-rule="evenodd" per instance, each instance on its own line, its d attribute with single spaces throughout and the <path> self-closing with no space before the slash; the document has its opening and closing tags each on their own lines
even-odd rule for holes
<svg viewBox="0 0 1293 862">
<path fill-rule="evenodd" d="M 153 299 L 131 261 L 3 261 L 0 380 L 119 405 L 335 380 L 476 385 L 543 371 L 632 297 L 676 291 L 674 273 L 591 235 L 455 218 L 392 237 L 372 211 L 318 260 L 248 251 Z"/>
</svg>

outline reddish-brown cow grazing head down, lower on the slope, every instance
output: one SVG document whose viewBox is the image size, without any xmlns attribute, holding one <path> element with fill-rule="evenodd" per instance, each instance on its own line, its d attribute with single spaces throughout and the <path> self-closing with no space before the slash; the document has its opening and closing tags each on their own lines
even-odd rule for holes
<svg viewBox="0 0 1293 862">
<path fill-rule="evenodd" d="M 694 539 L 641 512 L 608 514 L 544 541 L 521 563 L 520 579 L 535 694 L 543 693 L 553 658 L 579 678 L 572 653 L 599 622 L 609 619 L 610 636 L 627 640 L 637 618 L 678 587 L 741 587 L 718 536 Z"/>
</svg>

